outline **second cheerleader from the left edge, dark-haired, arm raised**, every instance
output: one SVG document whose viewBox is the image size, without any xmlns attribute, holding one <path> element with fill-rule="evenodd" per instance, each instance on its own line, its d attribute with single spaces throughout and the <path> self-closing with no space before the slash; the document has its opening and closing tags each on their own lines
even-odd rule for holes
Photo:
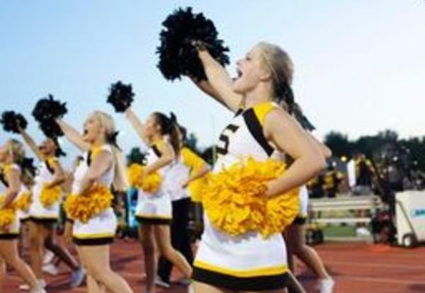
<svg viewBox="0 0 425 293">
<path fill-rule="evenodd" d="M 40 161 L 40 167 L 33 185 L 32 202 L 28 212 L 31 268 L 40 282 L 45 285 L 45 281 L 42 280 L 42 257 L 43 248 L 47 248 L 63 260 L 72 270 L 71 286 L 78 287 L 84 281 L 84 270 L 81 269 L 69 251 L 59 246 L 54 238 L 55 225 L 58 221 L 60 202 L 63 196 L 61 185 L 65 180 L 64 171 L 58 160 L 62 150 L 55 139 L 47 138 L 40 146 L 37 146 L 27 132 L 22 129 L 20 129 L 20 132 L 23 140 Z M 42 198 L 48 192 L 57 193 L 55 195 L 57 198 Z M 26 289 L 23 286 L 21 286 L 21 289 Z"/>
</svg>

